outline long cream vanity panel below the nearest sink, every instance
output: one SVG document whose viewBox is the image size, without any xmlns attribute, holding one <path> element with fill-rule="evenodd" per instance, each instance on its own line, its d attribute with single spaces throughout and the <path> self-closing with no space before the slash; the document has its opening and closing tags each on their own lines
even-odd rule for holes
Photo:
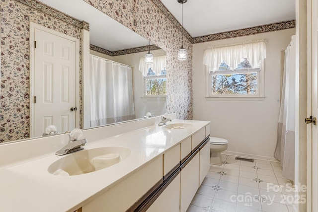
<svg viewBox="0 0 318 212">
<path fill-rule="evenodd" d="M 127 211 L 160 180 L 162 180 L 162 156 L 84 205 L 82 212 Z"/>
</svg>

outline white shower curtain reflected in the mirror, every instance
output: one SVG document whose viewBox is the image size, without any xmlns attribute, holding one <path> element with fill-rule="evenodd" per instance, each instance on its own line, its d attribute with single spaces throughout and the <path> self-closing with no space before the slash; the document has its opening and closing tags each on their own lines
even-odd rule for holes
<svg viewBox="0 0 318 212">
<path fill-rule="evenodd" d="M 131 67 L 90 55 L 90 127 L 135 119 Z"/>
</svg>

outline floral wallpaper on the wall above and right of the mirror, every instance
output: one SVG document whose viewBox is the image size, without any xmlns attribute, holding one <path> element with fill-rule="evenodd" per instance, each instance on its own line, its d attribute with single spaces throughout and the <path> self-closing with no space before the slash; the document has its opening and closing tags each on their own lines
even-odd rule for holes
<svg viewBox="0 0 318 212">
<path fill-rule="evenodd" d="M 155 0 L 84 0 L 111 16 L 136 33 L 152 41 L 167 55 L 167 105 L 168 113 L 178 119 L 192 119 L 192 43 L 183 37 L 188 51 L 186 61 L 177 60 L 181 47 L 180 24 L 172 22 Z M 173 96 L 173 101 L 169 101 Z"/>
</svg>

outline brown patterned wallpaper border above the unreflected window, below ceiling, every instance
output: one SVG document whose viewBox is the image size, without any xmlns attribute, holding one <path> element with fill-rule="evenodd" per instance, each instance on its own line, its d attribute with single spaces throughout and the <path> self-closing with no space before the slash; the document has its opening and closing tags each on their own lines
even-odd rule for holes
<svg viewBox="0 0 318 212">
<path fill-rule="evenodd" d="M 221 32 L 221 33 L 216 33 L 216 34 L 211 34 L 206 36 L 195 37 L 193 38 L 192 43 L 201 43 L 201 42 L 207 42 L 207 41 L 234 38 L 239 36 L 254 35 L 254 34 L 259 34 L 264 32 L 272 32 L 272 31 L 290 29 L 295 27 L 296 27 L 296 20 L 283 21 L 283 22 L 255 26 L 255 27 L 250 27 L 245 29 L 233 30 L 229 32 Z"/>
</svg>

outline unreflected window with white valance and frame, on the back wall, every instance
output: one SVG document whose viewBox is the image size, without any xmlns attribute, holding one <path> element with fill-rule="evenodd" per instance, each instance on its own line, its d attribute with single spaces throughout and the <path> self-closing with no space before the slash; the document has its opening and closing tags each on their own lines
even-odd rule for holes
<svg viewBox="0 0 318 212">
<path fill-rule="evenodd" d="M 207 99 L 263 97 L 265 57 L 264 41 L 207 49 Z"/>
</svg>

